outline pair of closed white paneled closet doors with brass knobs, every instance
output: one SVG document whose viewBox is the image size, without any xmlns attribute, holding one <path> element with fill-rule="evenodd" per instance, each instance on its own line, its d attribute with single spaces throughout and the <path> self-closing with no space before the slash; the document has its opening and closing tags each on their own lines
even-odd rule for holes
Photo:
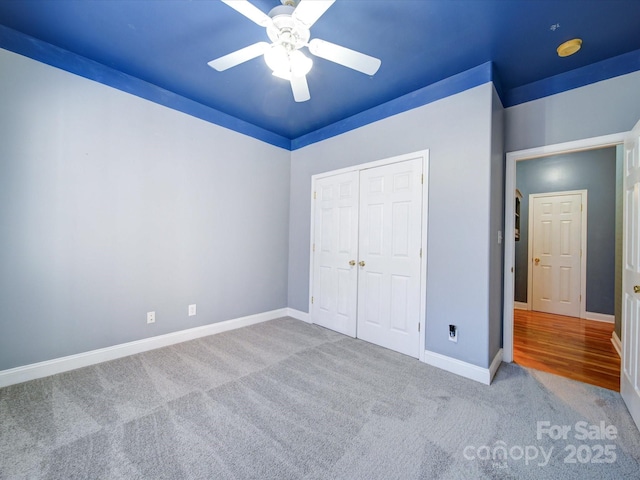
<svg viewBox="0 0 640 480">
<path fill-rule="evenodd" d="M 314 323 L 419 357 L 422 159 L 316 181 Z"/>
</svg>

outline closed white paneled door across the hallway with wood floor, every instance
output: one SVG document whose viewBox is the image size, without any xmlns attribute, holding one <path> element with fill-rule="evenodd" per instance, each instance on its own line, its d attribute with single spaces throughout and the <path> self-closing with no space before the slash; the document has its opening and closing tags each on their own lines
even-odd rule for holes
<svg viewBox="0 0 640 480">
<path fill-rule="evenodd" d="M 532 309 L 580 317 L 582 194 L 529 198 Z"/>
</svg>

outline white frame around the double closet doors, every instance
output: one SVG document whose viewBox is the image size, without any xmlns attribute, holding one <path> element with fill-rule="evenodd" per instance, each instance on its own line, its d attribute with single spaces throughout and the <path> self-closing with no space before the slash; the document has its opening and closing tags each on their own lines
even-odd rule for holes
<svg viewBox="0 0 640 480">
<path fill-rule="evenodd" d="M 406 160 L 412 160 L 415 158 L 422 158 L 422 191 L 421 191 L 421 203 L 422 203 L 422 228 L 421 228 L 421 263 L 420 263 L 420 345 L 419 345 L 419 360 L 424 362 L 425 355 L 425 322 L 426 322 L 426 310 L 427 310 L 427 230 L 429 225 L 429 150 L 418 150 L 416 152 L 407 153 L 404 155 L 397 155 L 394 157 L 383 158 L 381 160 L 374 160 L 372 162 L 353 165 L 350 167 L 340 168 L 337 170 L 331 170 L 327 172 L 317 173 L 311 176 L 311 236 L 309 238 L 309 321 L 313 322 L 311 318 L 311 298 L 313 296 L 313 240 L 314 240 L 314 195 L 316 191 L 316 181 L 324 177 L 330 177 L 333 175 L 339 175 L 347 172 L 360 172 L 369 168 L 381 167 L 385 165 L 391 165 L 393 163 L 404 162 Z"/>
</svg>

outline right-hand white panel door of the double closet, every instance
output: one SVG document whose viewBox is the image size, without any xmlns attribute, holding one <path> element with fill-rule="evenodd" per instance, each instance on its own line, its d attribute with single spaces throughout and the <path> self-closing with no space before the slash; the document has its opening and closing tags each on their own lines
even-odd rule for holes
<svg viewBox="0 0 640 480">
<path fill-rule="evenodd" d="M 358 338 L 419 357 L 420 158 L 360 172 Z"/>
</svg>

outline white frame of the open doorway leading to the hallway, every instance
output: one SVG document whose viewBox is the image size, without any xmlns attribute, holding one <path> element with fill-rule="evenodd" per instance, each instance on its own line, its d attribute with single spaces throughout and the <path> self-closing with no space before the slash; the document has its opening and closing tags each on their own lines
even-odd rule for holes
<svg viewBox="0 0 640 480">
<path fill-rule="evenodd" d="M 585 138 L 573 142 L 557 143 L 542 147 L 507 152 L 505 165 L 505 197 L 504 197 L 504 290 L 502 315 L 502 361 L 513 362 L 513 307 L 514 307 L 514 269 L 515 269 L 515 191 L 516 162 L 535 158 L 560 155 L 564 153 L 583 152 L 598 148 L 615 147 L 624 144 L 628 132 L 614 133 L 600 137 Z M 624 220 L 623 220 L 624 221 Z M 529 302 L 529 299 L 527 299 Z"/>
</svg>

